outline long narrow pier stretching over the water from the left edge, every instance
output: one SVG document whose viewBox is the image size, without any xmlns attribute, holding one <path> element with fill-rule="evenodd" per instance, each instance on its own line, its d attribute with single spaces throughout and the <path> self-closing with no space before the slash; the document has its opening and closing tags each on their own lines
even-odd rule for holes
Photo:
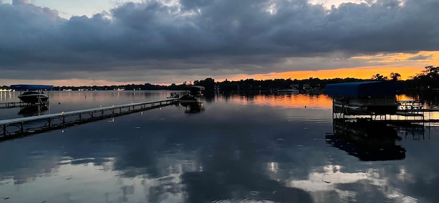
<svg viewBox="0 0 439 203">
<path fill-rule="evenodd" d="M 0 121 L 0 141 L 29 136 L 49 130 L 62 129 L 120 115 L 127 115 L 132 112 L 161 108 L 162 106 L 169 106 L 176 102 L 178 102 L 178 98 L 170 98 L 158 101 L 144 101 L 85 110 L 58 112 L 34 117 L 5 119 Z"/>
</svg>

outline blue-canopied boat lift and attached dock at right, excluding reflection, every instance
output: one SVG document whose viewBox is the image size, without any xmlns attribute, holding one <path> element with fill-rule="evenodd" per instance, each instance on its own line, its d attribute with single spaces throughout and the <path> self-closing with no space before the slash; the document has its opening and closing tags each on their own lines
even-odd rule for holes
<svg viewBox="0 0 439 203">
<path fill-rule="evenodd" d="M 333 98 L 333 119 L 355 122 L 366 119 L 395 126 L 424 126 L 439 123 L 439 109 L 423 101 L 399 101 L 400 82 L 346 82 L 327 84 L 325 92 Z"/>
</svg>

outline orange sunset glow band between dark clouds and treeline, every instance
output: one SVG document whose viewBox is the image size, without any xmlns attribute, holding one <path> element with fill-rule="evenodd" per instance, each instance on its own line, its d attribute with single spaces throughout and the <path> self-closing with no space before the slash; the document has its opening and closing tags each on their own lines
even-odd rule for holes
<svg viewBox="0 0 439 203">
<path fill-rule="evenodd" d="M 320 79 L 346 78 L 354 77 L 358 79 L 370 79 L 372 75 L 379 73 L 380 75 L 389 76 L 390 73 L 401 74 L 401 80 L 407 80 L 411 77 L 422 73 L 425 67 L 429 65 L 436 66 L 439 64 L 439 51 L 420 51 L 418 53 L 388 53 L 374 56 L 355 56 L 349 58 L 347 61 L 359 62 L 360 64 L 374 64 L 363 67 L 342 67 L 335 69 L 320 69 L 309 71 L 285 71 L 272 72 L 266 74 L 236 74 L 236 75 L 193 75 L 191 78 L 173 77 L 172 82 L 153 82 L 153 81 L 130 81 L 130 82 L 115 82 L 109 80 L 87 80 L 80 78 L 72 78 L 65 80 L 21 80 L 18 83 L 28 84 L 54 84 L 55 86 L 109 86 L 109 85 L 124 85 L 124 84 L 158 84 L 170 85 L 171 83 L 180 84 L 184 81 L 191 82 L 193 80 L 204 80 L 207 77 L 213 78 L 217 82 L 224 80 L 239 81 L 246 79 L 254 80 L 274 80 L 287 79 L 303 80 L 309 77 Z M 324 67 L 324 64 L 322 64 Z M 174 81 L 181 80 L 181 81 Z M 3 84 L 16 84 L 15 80 L 2 80 Z"/>
</svg>

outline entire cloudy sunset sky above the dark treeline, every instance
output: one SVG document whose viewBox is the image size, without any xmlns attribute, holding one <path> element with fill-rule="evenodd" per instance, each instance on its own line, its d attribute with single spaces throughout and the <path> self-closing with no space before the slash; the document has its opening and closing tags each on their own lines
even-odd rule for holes
<svg viewBox="0 0 439 203">
<path fill-rule="evenodd" d="M 437 0 L 0 0 L 0 85 L 182 84 L 439 66 Z"/>
</svg>

